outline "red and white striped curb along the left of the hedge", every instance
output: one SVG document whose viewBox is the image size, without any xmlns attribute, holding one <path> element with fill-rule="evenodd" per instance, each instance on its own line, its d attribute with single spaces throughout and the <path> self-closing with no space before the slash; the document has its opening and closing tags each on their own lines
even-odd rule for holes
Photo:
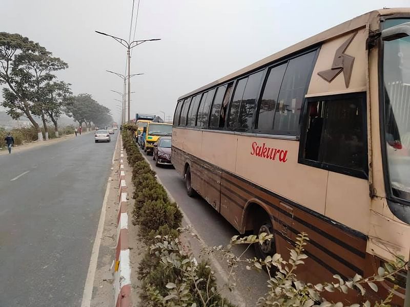
<svg viewBox="0 0 410 307">
<path fill-rule="evenodd" d="M 128 192 L 124 172 L 124 147 L 121 144 L 119 166 L 119 210 L 117 217 L 117 247 L 115 249 L 115 307 L 131 307 L 131 266 L 128 245 Z"/>
</svg>

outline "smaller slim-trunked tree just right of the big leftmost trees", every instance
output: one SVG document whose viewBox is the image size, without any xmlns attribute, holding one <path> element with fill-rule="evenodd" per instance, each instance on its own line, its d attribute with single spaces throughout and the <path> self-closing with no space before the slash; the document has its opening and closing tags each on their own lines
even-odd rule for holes
<svg viewBox="0 0 410 307">
<path fill-rule="evenodd" d="M 65 109 L 70 105 L 71 95 L 70 83 L 64 81 L 47 82 L 44 86 L 45 98 L 44 111 L 50 117 L 54 124 L 55 135 L 58 138 L 58 123 L 57 120 L 63 114 Z"/>
</svg>

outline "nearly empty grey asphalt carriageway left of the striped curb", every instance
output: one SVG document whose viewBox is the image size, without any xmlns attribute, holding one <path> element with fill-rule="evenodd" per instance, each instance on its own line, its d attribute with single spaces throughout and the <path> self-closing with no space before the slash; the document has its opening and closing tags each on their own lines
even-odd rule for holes
<svg viewBox="0 0 410 307">
<path fill-rule="evenodd" d="M 111 168 L 93 133 L 0 156 L 0 307 L 79 306 Z"/>
</svg>

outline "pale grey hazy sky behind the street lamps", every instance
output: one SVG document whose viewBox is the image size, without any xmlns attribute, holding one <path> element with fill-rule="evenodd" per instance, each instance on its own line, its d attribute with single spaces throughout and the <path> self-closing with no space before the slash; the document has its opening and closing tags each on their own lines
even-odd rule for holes
<svg viewBox="0 0 410 307">
<path fill-rule="evenodd" d="M 39 42 L 68 62 L 58 74 L 74 94 L 89 93 L 115 111 L 126 49 L 94 30 L 129 38 L 132 0 L 1 0 L 0 31 Z M 135 8 L 138 0 L 135 0 Z M 176 99 L 293 43 L 373 9 L 409 0 L 140 0 L 134 48 L 131 117 L 166 116 Z M 136 10 L 135 10 L 136 11 Z M 134 14 L 135 16 L 135 14 Z M 134 19 L 135 20 L 135 19 Z M 131 38 L 133 38 L 133 30 Z M 0 98 L 1 99 L 1 98 Z"/>
</svg>

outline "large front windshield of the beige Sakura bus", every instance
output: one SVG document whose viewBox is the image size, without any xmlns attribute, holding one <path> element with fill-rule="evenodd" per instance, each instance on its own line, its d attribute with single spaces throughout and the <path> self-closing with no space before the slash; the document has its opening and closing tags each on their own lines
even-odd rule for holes
<svg viewBox="0 0 410 307">
<path fill-rule="evenodd" d="M 409 21 L 387 19 L 385 28 Z M 383 78 L 389 183 L 393 196 L 410 202 L 410 37 L 384 42 Z"/>
</svg>

